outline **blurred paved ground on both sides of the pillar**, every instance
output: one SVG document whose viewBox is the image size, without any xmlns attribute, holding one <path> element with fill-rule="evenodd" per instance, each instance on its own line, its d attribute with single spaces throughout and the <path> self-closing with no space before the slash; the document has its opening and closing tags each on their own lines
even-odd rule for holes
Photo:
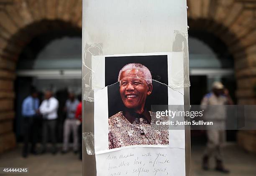
<svg viewBox="0 0 256 176">
<path fill-rule="evenodd" d="M 210 171 L 201 170 L 202 145 L 192 146 L 192 173 L 193 176 L 224 176 L 214 171 L 214 161 Z M 78 156 L 69 152 L 62 155 L 44 154 L 29 156 L 23 159 L 20 156 L 21 147 L 0 155 L 0 167 L 25 167 L 28 166 L 31 176 L 81 176 L 82 162 Z M 236 144 L 225 147 L 225 164 L 230 169 L 230 176 L 256 176 L 256 155 L 249 154 L 239 149 Z M 3 174 L 1 174 L 3 175 Z M 13 174 L 6 174 L 12 176 Z M 15 174 L 17 175 L 17 174 Z M 22 174 L 24 175 L 24 174 Z"/>
</svg>

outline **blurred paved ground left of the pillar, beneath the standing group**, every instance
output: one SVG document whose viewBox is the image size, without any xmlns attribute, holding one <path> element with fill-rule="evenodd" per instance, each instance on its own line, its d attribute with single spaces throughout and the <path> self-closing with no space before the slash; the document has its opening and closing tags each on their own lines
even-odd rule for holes
<svg viewBox="0 0 256 176">
<path fill-rule="evenodd" d="M 28 167 L 29 174 L 20 176 L 82 176 L 82 161 L 78 154 L 69 152 L 67 154 L 57 153 L 52 155 L 29 155 L 24 159 L 21 157 L 21 147 L 0 155 L 0 167 Z M 0 174 L 2 176 L 3 174 Z M 6 176 L 17 176 L 17 174 L 5 174 Z"/>
</svg>

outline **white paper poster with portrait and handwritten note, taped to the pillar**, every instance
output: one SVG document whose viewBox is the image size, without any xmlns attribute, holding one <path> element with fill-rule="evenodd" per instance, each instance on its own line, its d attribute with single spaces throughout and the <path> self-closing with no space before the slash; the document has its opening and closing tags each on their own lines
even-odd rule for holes
<svg viewBox="0 0 256 176">
<path fill-rule="evenodd" d="M 183 88 L 169 87 L 174 77 L 183 79 L 182 62 L 175 62 L 182 57 L 182 52 L 92 57 L 97 175 L 184 175 L 184 130 L 154 130 L 150 124 L 151 105 L 184 104 Z"/>
</svg>

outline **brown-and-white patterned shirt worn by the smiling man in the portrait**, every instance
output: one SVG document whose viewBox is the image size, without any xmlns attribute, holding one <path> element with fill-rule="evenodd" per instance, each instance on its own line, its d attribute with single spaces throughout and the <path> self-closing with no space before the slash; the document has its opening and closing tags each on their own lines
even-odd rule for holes
<svg viewBox="0 0 256 176">
<path fill-rule="evenodd" d="M 151 119 L 156 119 L 156 113 L 149 112 Z M 168 130 L 152 129 L 145 117 L 136 117 L 131 123 L 123 112 L 118 112 L 108 119 L 109 149 L 131 145 L 169 144 Z"/>
</svg>

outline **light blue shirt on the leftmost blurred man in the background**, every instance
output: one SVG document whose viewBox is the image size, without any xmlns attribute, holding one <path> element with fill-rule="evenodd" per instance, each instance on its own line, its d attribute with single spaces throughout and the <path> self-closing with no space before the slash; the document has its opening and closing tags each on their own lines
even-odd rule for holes
<svg viewBox="0 0 256 176">
<path fill-rule="evenodd" d="M 33 117 L 36 114 L 36 109 L 39 107 L 39 99 L 28 96 L 22 103 L 23 117 Z"/>
</svg>

